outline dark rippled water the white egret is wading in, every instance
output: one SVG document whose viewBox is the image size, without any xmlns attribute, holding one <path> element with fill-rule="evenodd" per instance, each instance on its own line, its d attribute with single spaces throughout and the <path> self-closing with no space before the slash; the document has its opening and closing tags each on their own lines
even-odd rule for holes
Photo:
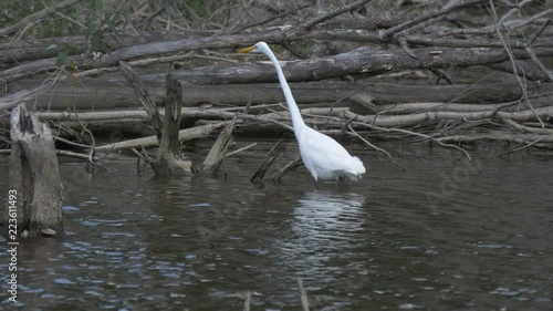
<svg viewBox="0 0 553 311">
<path fill-rule="evenodd" d="M 252 310 L 301 310 L 301 277 L 312 310 L 552 310 L 552 153 L 498 158 L 502 145 L 483 145 L 472 165 L 455 151 L 380 144 L 404 172 L 349 145 L 368 169 L 357 184 L 315 190 L 301 167 L 253 186 L 272 143 L 228 158 L 226 179 L 137 175 L 122 155 L 94 175 L 65 162 L 65 236 L 20 245 L 17 305 L 242 310 L 250 290 Z M 294 155 L 291 141 L 278 165 Z M 3 199 L 7 178 L 0 189 Z M 8 260 L 2 251 L 3 293 Z"/>
</svg>

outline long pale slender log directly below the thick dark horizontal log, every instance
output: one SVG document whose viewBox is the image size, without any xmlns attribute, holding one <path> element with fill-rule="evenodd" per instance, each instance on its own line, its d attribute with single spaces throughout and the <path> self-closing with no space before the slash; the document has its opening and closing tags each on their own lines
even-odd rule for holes
<svg viewBox="0 0 553 311">
<path fill-rule="evenodd" d="M 451 107 L 450 107 L 451 106 Z M 465 106 L 460 106 L 465 107 Z M 497 118 L 504 121 L 530 122 L 540 116 L 546 120 L 553 120 L 553 107 L 535 107 L 533 111 L 524 107 L 522 104 L 514 102 L 511 104 L 497 105 L 473 105 L 473 108 L 461 111 L 459 106 L 448 103 L 411 103 L 398 104 L 380 108 L 378 114 L 357 114 L 346 107 L 319 107 L 301 110 L 305 116 L 305 121 L 312 125 L 341 127 L 347 120 L 353 120 L 353 125 L 357 126 L 382 126 L 382 127 L 405 127 L 431 121 L 484 121 L 488 118 Z M 407 113 L 404 113 L 405 112 Z M 508 110 L 507 112 L 503 110 Z M 509 112 L 512 110 L 512 112 Z M 221 110 L 185 110 L 182 116 L 199 117 L 199 118 L 232 118 L 236 111 Z M 261 122 L 279 122 L 289 121 L 290 114 L 288 111 L 269 112 L 259 114 L 259 110 L 254 110 L 255 115 L 242 114 L 239 120 L 261 121 Z M 468 112 L 467 112 L 468 111 Z M 66 113 L 38 113 L 41 120 L 73 120 L 77 116 L 72 116 Z M 82 121 L 105 121 L 117 120 L 119 116 L 125 116 L 131 123 L 144 121 L 147 115 L 140 111 L 121 111 L 115 113 L 82 113 Z M 119 118 L 118 122 L 121 122 Z M 283 126 L 286 127 L 286 126 Z"/>
</svg>

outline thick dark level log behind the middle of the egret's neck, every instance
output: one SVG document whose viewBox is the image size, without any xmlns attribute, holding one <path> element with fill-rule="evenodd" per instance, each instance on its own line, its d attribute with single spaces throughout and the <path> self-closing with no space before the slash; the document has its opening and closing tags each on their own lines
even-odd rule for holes
<svg viewBox="0 0 553 311">
<path fill-rule="evenodd" d="M 31 90 L 40 86 L 42 81 L 24 80 L 10 84 L 10 93 Z M 144 82 L 145 87 L 156 104 L 165 102 L 165 82 Z M 515 82 L 479 83 L 455 85 L 417 85 L 376 83 L 359 81 L 357 83 L 324 81 L 291 83 L 294 99 L 300 105 L 336 103 L 338 106 L 363 104 L 398 104 L 398 103 L 466 103 L 493 104 L 519 100 L 523 96 Z M 283 102 L 279 84 L 236 84 L 236 85 L 194 85 L 186 84 L 182 94 L 186 106 L 199 104 L 246 105 L 271 104 Z M 528 94 L 553 94 L 553 83 L 529 84 Z M 36 110 L 66 110 L 67 105 L 79 112 L 86 110 L 108 110 L 140 106 L 134 96 L 133 89 L 124 81 L 105 81 L 82 79 L 79 83 L 60 82 L 55 86 L 27 94 L 19 101 L 0 99 L 0 108 L 9 110 L 19 102 L 33 100 Z M 369 110 L 364 110 L 369 112 Z M 363 112 L 363 111 L 362 111 Z"/>
</svg>

